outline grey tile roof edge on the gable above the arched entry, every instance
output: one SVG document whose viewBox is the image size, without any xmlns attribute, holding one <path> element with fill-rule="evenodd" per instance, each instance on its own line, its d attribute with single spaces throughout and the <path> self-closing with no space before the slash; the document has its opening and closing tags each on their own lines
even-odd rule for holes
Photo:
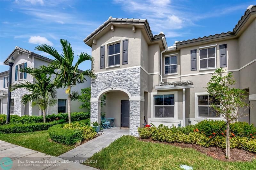
<svg viewBox="0 0 256 170">
<path fill-rule="evenodd" d="M 95 33 L 97 33 L 101 28 L 103 28 L 104 26 L 106 26 L 109 22 L 123 22 L 123 23 L 128 23 L 128 22 L 131 22 L 131 23 L 145 23 L 146 26 L 148 27 L 148 31 L 149 31 L 149 34 L 151 36 L 151 39 L 157 39 L 157 38 L 160 38 L 160 37 L 163 37 L 164 36 L 164 33 L 163 32 L 160 32 L 159 34 L 157 35 L 154 35 L 152 34 L 152 31 L 150 29 L 150 26 L 148 24 L 148 20 L 147 19 L 134 19 L 134 18 L 112 18 L 111 16 L 108 18 L 108 20 L 106 20 L 103 24 L 101 24 L 98 28 L 96 28 L 92 33 L 90 33 L 85 39 L 84 39 L 84 42 L 87 41 L 88 39 L 90 39 Z M 165 40 L 166 41 L 166 40 Z"/>
</svg>

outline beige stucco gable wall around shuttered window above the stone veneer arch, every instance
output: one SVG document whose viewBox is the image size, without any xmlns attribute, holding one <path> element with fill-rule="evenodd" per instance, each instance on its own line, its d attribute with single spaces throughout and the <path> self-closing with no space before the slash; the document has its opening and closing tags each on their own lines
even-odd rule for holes
<svg viewBox="0 0 256 170">
<path fill-rule="evenodd" d="M 128 64 L 122 64 L 122 49 L 123 40 L 129 39 L 128 44 Z M 107 68 L 108 61 L 108 42 L 120 40 L 120 66 L 114 68 Z M 116 42 L 117 43 L 117 42 Z M 105 68 L 100 69 L 100 47 L 105 45 Z M 108 44 L 111 45 L 111 44 Z M 141 30 L 137 29 L 134 33 L 130 28 L 115 27 L 115 31 L 108 31 L 97 40 L 97 44 L 92 44 L 92 56 L 94 64 L 92 68 L 95 73 L 107 70 L 116 70 L 133 66 L 140 66 L 140 46 L 141 46 Z"/>
</svg>

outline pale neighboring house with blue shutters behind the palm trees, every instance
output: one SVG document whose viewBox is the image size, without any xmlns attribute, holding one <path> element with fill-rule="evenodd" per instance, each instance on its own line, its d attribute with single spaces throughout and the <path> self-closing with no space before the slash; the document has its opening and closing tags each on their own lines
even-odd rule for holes
<svg viewBox="0 0 256 170">
<path fill-rule="evenodd" d="M 41 65 L 48 65 L 53 60 L 46 58 L 42 55 L 38 55 L 32 51 L 15 47 L 12 53 L 4 61 L 4 64 L 8 64 L 9 57 L 13 56 L 15 62 L 12 67 L 12 83 L 19 83 L 24 81 L 35 81 L 31 75 L 20 72 L 19 68 L 30 67 L 38 68 Z M 72 87 L 71 91 L 78 91 L 90 86 L 90 78 L 86 78 L 83 84 L 77 84 L 76 87 Z M 0 114 L 6 114 L 7 112 L 7 96 L 9 86 L 9 71 L 0 73 Z M 27 103 L 25 106 L 21 103 L 21 98 L 24 94 L 28 94 L 26 89 L 16 89 L 12 91 L 11 96 L 11 115 L 42 115 L 43 111 L 38 106 L 32 107 L 32 102 Z M 57 89 L 57 104 L 54 107 L 48 107 L 46 114 L 57 114 L 68 112 L 68 95 L 65 93 L 65 89 Z M 86 109 L 80 109 L 82 103 L 78 100 L 71 101 L 71 112 L 82 112 Z"/>
</svg>

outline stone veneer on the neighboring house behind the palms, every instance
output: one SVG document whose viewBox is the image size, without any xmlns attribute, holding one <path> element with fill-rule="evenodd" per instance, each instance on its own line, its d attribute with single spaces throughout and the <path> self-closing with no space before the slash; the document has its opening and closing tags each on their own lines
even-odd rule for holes
<svg viewBox="0 0 256 170">
<path fill-rule="evenodd" d="M 23 105 L 21 103 L 21 98 L 24 94 L 29 94 L 29 92 L 24 89 L 24 88 L 20 88 L 20 89 L 16 89 L 14 91 L 12 91 L 12 97 L 14 98 L 14 113 L 13 115 L 20 115 L 21 116 L 21 105 Z M 32 114 L 32 103 L 29 103 L 29 115 Z"/>
</svg>

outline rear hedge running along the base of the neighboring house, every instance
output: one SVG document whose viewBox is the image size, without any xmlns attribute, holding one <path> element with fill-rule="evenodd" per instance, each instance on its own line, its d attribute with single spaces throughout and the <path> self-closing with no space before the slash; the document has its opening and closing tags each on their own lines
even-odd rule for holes
<svg viewBox="0 0 256 170">
<path fill-rule="evenodd" d="M 70 114 L 71 121 L 79 121 L 90 118 L 90 112 L 74 112 Z M 67 113 L 59 113 L 57 115 L 46 115 L 46 122 L 52 122 L 57 120 L 68 121 Z M 4 125 L 6 122 L 6 115 L 0 115 L 0 125 Z M 11 115 L 10 124 L 24 124 L 24 123 L 41 123 L 43 121 L 43 116 L 28 116 L 28 115 Z"/>
</svg>

